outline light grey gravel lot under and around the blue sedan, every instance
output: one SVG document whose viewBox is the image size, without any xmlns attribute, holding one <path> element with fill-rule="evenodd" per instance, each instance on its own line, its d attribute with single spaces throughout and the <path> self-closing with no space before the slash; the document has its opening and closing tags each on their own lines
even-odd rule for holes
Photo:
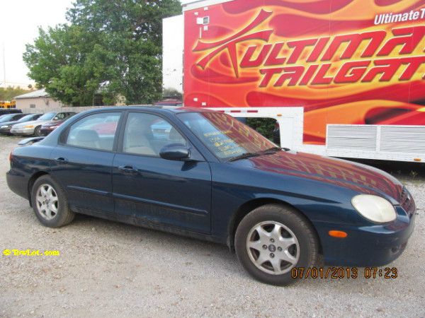
<svg viewBox="0 0 425 318">
<path fill-rule="evenodd" d="M 425 317 L 425 183 L 409 180 L 419 215 L 395 279 L 308 279 L 279 288 L 249 278 L 227 247 L 77 216 L 45 228 L 6 185 L 18 139 L 0 137 L 1 317 Z M 359 269 L 363 273 L 362 269 Z"/>
</svg>

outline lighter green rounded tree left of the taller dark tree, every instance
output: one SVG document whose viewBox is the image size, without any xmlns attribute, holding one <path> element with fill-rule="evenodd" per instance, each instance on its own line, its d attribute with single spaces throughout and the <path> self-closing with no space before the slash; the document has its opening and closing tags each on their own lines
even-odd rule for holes
<svg viewBox="0 0 425 318">
<path fill-rule="evenodd" d="M 39 29 L 34 45 L 26 45 L 23 60 L 37 86 L 65 105 L 91 105 L 103 75 L 96 63 L 96 37 L 77 25 Z"/>
</svg>

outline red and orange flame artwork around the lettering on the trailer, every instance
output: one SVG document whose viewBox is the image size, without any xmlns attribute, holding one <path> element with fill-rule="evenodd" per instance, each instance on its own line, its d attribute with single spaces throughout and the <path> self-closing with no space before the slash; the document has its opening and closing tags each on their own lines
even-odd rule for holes
<svg viewBox="0 0 425 318">
<path fill-rule="evenodd" d="M 260 86 L 263 79 L 260 70 L 266 66 L 241 67 L 249 47 L 271 45 L 270 52 L 272 45 L 279 42 L 283 42 L 279 57 L 290 56 L 292 49 L 288 42 L 324 37 L 329 37 L 330 42 L 338 35 L 383 30 L 386 33 L 383 45 L 394 37 L 394 29 L 421 27 L 425 19 L 375 25 L 376 16 L 421 12 L 421 9 L 425 11 L 425 0 L 234 0 L 210 6 L 208 11 L 186 11 L 185 105 L 304 107 L 304 142 L 321 145 L 326 140 L 327 124 L 424 125 L 425 62 L 410 74 L 409 81 L 399 80 L 407 67 L 403 65 L 390 81 L 380 81 L 380 76 L 375 76 L 367 83 L 273 86 L 273 80 L 266 87 Z M 256 19 L 259 13 L 262 16 Z M 199 15 L 210 17 L 208 29 L 196 24 Z M 255 36 L 250 36 L 253 34 Z M 425 57 L 424 38 L 421 37 L 410 54 L 400 54 L 402 47 L 398 46 L 385 58 L 408 58 L 409 61 L 411 57 Z M 361 42 L 350 59 L 340 58 L 346 49 L 346 45 L 341 45 L 327 62 L 331 64 L 327 76 L 335 75 L 347 61 L 368 60 L 373 66 L 380 57 L 376 52 L 372 57 L 362 57 L 367 45 Z M 280 66 L 307 69 L 312 64 L 306 61 L 312 49 L 313 46 L 306 47 L 295 64 Z M 260 49 L 256 49 L 252 59 L 263 58 L 259 52 Z M 324 64 L 324 61 L 317 59 L 316 64 Z"/>
</svg>

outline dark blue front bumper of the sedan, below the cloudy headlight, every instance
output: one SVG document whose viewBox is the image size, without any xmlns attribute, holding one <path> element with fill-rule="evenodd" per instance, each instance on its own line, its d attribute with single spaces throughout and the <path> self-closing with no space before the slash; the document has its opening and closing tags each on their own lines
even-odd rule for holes
<svg viewBox="0 0 425 318">
<path fill-rule="evenodd" d="M 385 225 L 315 224 L 325 263 L 335 266 L 383 266 L 397 259 L 414 230 L 416 211 L 407 213 L 400 206 L 396 210 L 397 219 Z M 342 230 L 348 236 L 331 237 L 329 230 Z"/>
</svg>

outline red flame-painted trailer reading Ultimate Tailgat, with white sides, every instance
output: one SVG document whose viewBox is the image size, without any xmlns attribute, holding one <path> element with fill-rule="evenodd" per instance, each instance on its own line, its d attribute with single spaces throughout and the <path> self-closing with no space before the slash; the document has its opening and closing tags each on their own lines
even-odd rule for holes
<svg viewBox="0 0 425 318">
<path fill-rule="evenodd" d="M 424 0 L 182 2 L 163 71 L 185 106 L 275 118 L 297 151 L 425 161 Z"/>
</svg>

